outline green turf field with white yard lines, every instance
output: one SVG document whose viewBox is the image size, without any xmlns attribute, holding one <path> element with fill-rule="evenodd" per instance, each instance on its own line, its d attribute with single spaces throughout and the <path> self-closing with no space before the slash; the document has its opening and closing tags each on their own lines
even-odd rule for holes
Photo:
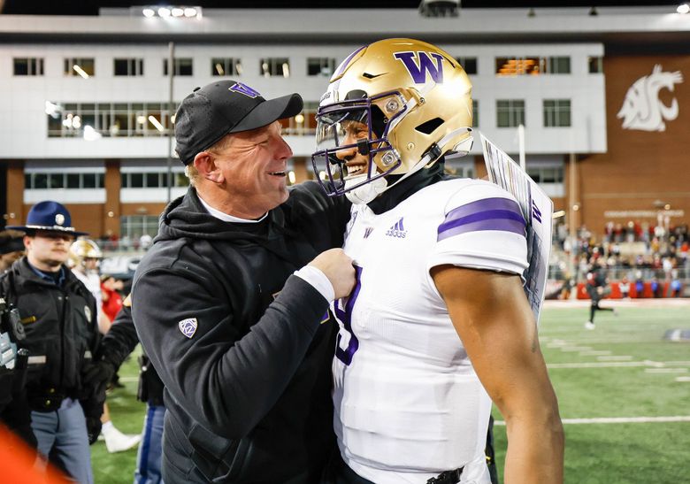
<svg viewBox="0 0 690 484">
<path fill-rule="evenodd" d="M 583 327 L 588 318 L 584 306 L 549 306 L 542 315 L 541 347 L 564 420 L 565 481 L 690 483 L 690 342 L 663 341 L 667 329 L 690 328 L 690 305 L 617 307 L 617 317 L 597 313 L 593 331 Z M 144 405 L 134 400 L 134 357 L 120 375 L 126 388 L 108 397 L 112 420 L 123 432 L 138 433 Z M 495 417 L 502 420 L 496 411 Z M 625 421 L 674 417 L 685 419 Z M 495 427 L 495 438 L 502 467 L 504 426 Z M 96 484 L 132 481 L 136 450 L 108 454 L 103 442 L 91 450 Z"/>
</svg>

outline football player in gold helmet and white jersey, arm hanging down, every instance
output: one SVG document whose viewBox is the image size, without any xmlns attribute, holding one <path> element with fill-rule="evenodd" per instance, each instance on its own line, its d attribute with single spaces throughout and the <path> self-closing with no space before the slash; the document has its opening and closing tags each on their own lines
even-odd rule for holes
<svg viewBox="0 0 690 484">
<path fill-rule="evenodd" d="M 525 219 L 508 192 L 449 178 L 472 145 L 472 85 L 449 53 L 389 39 L 338 67 L 317 114 L 315 170 L 352 216 L 357 286 L 340 324 L 336 483 L 490 482 L 492 400 L 506 482 L 563 481 L 563 426 L 520 274 Z"/>
</svg>

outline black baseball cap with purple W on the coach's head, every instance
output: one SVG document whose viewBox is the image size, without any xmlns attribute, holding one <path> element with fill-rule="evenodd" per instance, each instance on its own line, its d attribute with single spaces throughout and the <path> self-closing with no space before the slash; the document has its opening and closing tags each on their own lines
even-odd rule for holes
<svg viewBox="0 0 690 484">
<path fill-rule="evenodd" d="M 302 111 L 302 96 L 291 94 L 266 100 L 237 81 L 216 81 L 196 88 L 175 114 L 175 141 L 185 165 L 223 136 L 265 127 Z"/>
</svg>

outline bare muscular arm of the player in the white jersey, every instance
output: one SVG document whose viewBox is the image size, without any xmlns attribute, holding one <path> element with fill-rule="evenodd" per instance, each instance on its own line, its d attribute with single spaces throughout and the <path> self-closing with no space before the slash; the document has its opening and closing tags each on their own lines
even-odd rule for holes
<svg viewBox="0 0 690 484">
<path fill-rule="evenodd" d="M 563 426 L 520 277 L 456 265 L 431 275 L 506 421 L 506 484 L 563 482 Z"/>
</svg>

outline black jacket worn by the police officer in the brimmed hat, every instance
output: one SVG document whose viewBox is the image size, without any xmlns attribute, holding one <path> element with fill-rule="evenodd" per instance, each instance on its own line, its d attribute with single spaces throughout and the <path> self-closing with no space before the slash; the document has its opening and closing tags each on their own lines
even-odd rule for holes
<svg viewBox="0 0 690 484">
<path fill-rule="evenodd" d="M 22 257 L 0 277 L 0 293 L 19 309 L 27 334 L 22 346 L 29 351 L 31 410 L 54 411 L 68 396 L 81 401 L 87 417 L 98 419 L 105 395 L 81 384 L 101 339 L 96 299 L 69 269 L 61 270 L 65 280 L 58 286 L 42 279 Z"/>
</svg>

